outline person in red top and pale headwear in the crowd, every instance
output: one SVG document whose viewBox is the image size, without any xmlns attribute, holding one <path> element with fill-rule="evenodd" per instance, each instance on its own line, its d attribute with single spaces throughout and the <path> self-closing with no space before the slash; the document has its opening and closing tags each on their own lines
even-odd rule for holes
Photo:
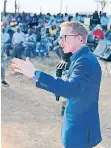
<svg viewBox="0 0 111 148">
<path fill-rule="evenodd" d="M 101 28 L 101 25 L 97 25 L 93 31 L 93 36 L 99 40 L 104 39 L 104 31 Z"/>
</svg>

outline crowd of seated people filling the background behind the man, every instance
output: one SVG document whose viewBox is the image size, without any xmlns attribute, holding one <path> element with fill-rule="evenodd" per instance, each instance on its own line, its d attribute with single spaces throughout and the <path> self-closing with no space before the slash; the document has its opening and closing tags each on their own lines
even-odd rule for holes
<svg viewBox="0 0 111 148">
<path fill-rule="evenodd" d="M 106 13 L 93 15 L 50 13 L 32 15 L 22 13 L 18 15 L 2 15 L 2 57 L 49 57 L 50 51 L 58 55 L 61 52 L 58 37 L 60 34 L 60 23 L 64 21 L 80 21 L 84 23 L 85 18 L 90 18 L 88 46 L 94 50 L 99 40 L 111 42 L 111 16 Z M 16 23 L 15 23 L 16 22 Z M 14 29 L 13 29 L 14 26 Z M 15 29 L 16 28 L 16 29 Z"/>
</svg>

